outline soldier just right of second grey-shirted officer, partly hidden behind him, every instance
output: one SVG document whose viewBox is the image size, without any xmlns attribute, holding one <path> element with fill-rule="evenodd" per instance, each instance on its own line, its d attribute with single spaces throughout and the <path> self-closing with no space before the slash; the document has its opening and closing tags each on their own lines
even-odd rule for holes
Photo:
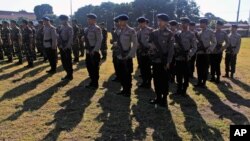
<svg viewBox="0 0 250 141">
<path fill-rule="evenodd" d="M 79 51 L 80 51 L 80 41 L 79 41 L 79 34 L 80 28 L 77 25 L 77 20 L 72 20 L 72 28 L 74 31 L 73 37 L 73 54 L 74 54 L 74 62 L 79 62 Z"/>
</svg>

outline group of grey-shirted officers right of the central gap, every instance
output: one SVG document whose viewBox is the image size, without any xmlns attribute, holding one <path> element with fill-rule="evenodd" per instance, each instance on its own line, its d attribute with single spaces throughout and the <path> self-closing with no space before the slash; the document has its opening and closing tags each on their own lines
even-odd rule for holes
<svg viewBox="0 0 250 141">
<path fill-rule="evenodd" d="M 193 78 L 196 64 L 198 82 L 195 87 L 206 88 L 211 66 L 211 81 L 220 83 L 223 51 L 226 50 L 226 73 L 224 77 L 233 78 L 237 54 L 239 53 L 241 36 L 237 33 L 237 25 L 232 25 L 230 34 L 222 30 L 223 22 L 217 21 L 216 30 L 208 28 L 208 19 L 200 19 L 200 31 L 195 30 L 195 23 L 189 18 L 169 21 L 168 15 L 157 15 L 158 28 L 148 26 L 148 19 L 137 19 L 139 27 L 135 30 L 128 26 L 127 15 L 114 19 L 116 29 L 112 32 L 113 63 L 116 80 L 122 85 L 119 95 L 130 97 L 132 58 L 137 54 L 142 84 L 139 87 L 151 88 L 153 79 L 156 98 L 151 104 L 167 106 L 169 82 L 176 77 L 177 91 L 175 94 L 185 96 L 189 79 Z M 196 62 L 196 63 L 195 63 Z"/>
</svg>

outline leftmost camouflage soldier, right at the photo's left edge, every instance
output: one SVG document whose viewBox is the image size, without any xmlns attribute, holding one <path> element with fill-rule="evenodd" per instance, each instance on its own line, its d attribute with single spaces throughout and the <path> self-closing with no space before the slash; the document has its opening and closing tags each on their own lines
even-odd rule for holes
<svg viewBox="0 0 250 141">
<path fill-rule="evenodd" d="M 8 22 L 2 21 L 3 29 L 1 32 L 2 40 L 3 40 L 3 51 L 4 55 L 8 57 L 8 62 L 13 61 L 13 50 L 11 48 L 11 36 L 10 36 L 10 29 L 8 27 Z"/>
</svg>

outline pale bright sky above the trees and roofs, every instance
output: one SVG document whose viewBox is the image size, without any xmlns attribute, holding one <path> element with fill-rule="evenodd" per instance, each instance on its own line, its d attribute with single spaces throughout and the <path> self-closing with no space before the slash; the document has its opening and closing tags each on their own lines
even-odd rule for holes
<svg viewBox="0 0 250 141">
<path fill-rule="evenodd" d="M 98 5 L 101 2 L 112 1 L 116 3 L 130 2 L 133 0 L 72 0 L 73 12 L 87 4 Z M 201 15 L 212 12 L 227 21 L 236 20 L 238 0 L 195 0 L 200 6 Z M 54 13 L 70 15 L 70 0 L 0 0 L 0 10 L 26 10 L 33 12 L 34 6 L 48 3 L 53 6 Z M 250 0 L 241 0 L 240 20 L 248 20 Z"/>
</svg>

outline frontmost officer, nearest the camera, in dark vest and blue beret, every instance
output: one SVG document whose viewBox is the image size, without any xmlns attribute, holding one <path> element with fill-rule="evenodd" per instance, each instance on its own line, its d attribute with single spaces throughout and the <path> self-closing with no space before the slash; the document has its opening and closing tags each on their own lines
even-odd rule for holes
<svg viewBox="0 0 250 141">
<path fill-rule="evenodd" d="M 169 17 L 165 13 L 157 15 L 158 29 L 150 35 L 151 57 L 153 62 L 153 80 L 156 98 L 151 104 L 167 107 L 169 93 L 169 68 L 174 55 L 174 37 L 168 29 Z"/>
</svg>

